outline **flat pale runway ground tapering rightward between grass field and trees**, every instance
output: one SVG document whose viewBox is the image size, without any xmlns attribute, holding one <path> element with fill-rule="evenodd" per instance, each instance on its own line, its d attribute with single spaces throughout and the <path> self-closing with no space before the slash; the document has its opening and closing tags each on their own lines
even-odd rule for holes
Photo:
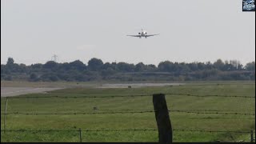
<svg viewBox="0 0 256 144">
<path fill-rule="evenodd" d="M 1 97 L 18 96 L 21 94 L 44 93 L 51 90 L 60 90 L 74 87 L 94 88 L 127 88 L 128 86 L 178 86 L 185 83 L 163 82 L 163 83 L 89 83 L 89 82 L 2 82 Z M 24 87 L 28 86 L 28 87 Z"/>
</svg>

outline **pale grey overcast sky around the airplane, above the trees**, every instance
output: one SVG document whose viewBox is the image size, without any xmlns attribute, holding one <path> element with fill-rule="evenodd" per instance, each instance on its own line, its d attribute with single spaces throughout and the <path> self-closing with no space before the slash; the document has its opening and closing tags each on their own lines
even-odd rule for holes
<svg viewBox="0 0 256 144">
<path fill-rule="evenodd" d="M 132 38 L 140 29 L 150 38 Z M 255 61 L 242 0 L 1 0 L 1 63 Z"/>
</svg>

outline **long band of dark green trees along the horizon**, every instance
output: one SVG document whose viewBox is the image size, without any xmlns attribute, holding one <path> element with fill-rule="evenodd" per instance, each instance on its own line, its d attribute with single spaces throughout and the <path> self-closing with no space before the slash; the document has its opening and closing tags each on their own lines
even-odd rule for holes
<svg viewBox="0 0 256 144">
<path fill-rule="evenodd" d="M 246 66 L 237 60 L 223 62 L 160 62 L 158 66 L 145 65 L 142 62 L 130 64 L 126 62 L 102 62 L 91 58 L 88 65 L 76 60 L 30 66 L 14 63 L 8 58 L 1 65 L 1 80 L 27 81 L 194 81 L 194 80 L 255 80 L 255 62 Z"/>
</svg>

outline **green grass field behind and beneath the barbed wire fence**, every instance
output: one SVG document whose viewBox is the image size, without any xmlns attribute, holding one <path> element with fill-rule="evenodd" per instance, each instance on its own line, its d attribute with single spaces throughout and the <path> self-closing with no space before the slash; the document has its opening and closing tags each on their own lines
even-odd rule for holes
<svg viewBox="0 0 256 144">
<path fill-rule="evenodd" d="M 158 142 L 154 113 L 74 114 L 154 110 L 152 97 L 113 98 L 111 96 L 158 93 L 173 93 L 166 95 L 169 110 L 229 113 L 170 112 L 174 142 L 238 142 L 240 140 L 250 142 L 250 130 L 255 130 L 255 115 L 230 113 L 255 114 L 255 98 L 209 95 L 255 97 L 255 82 L 190 82 L 183 86 L 130 89 L 70 88 L 55 90 L 49 94 L 26 94 L 20 98 L 9 98 L 7 113 L 26 114 L 8 114 L 6 116 L 7 130 L 76 131 L 6 131 L 6 133 L 1 132 L 1 142 L 79 142 L 79 128 L 82 130 L 124 130 L 82 131 L 82 142 Z M 204 97 L 180 94 L 195 94 Z M 24 96 L 46 98 L 22 98 Z M 52 96 L 78 98 L 51 98 Z M 106 96 L 106 98 L 86 98 L 90 96 Z M 1 130 L 4 127 L 5 100 L 1 98 Z M 94 107 L 97 110 L 94 110 Z M 225 131 L 248 131 L 248 133 Z"/>
</svg>

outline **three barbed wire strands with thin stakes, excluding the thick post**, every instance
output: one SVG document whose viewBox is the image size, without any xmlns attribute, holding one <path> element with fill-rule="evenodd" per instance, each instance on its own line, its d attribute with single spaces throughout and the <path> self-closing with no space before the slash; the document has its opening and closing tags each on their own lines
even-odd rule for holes
<svg viewBox="0 0 256 144">
<path fill-rule="evenodd" d="M 157 113 L 157 110 L 141 110 L 141 111 L 134 111 L 134 110 L 115 110 L 115 111 L 107 111 L 107 112 L 96 112 L 96 113 L 88 113 L 88 112 L 74 112 L 74 113 L 22 113 L 22 112 L 12 112 L 7 113 L 7 104 L 8 99 L 16 99 L 16 98 L 137 98 L 137 97 L 152 97 L 153 94 L 134 94 L 134 95 L 110 95 L 110 96 L 90 96 L 90 95 L 82 95 L 82 96 L 40 96 L 40 97 L 6 97 L 6 106 L 5 106 L 5 113 L 4 115 L 4 130 L 1 132 L 16 132 L 16 133 L 24 133 L 24 132 L 33 132 L 33 133 L 41 133 L 41 132 L 79 132 L 80 142 L 82 142 L 82 132 L 108 132 L 108 131 L 158 131 L 158 129 L 124 129 L 124 130 L 6 130 L 6 115 L 15 115 L 15 114 L 22 114 L 22 115 L 78 115 L 78 114 L 144 114 L 144 113 Z M 226 97 L 226 98 L 255 98 L 253 96 L 242 96 L 242 95 L 218 95 L 218 94 L 207 94 L 207 95 L 199 95 L 199 94 L 174 94 L 174 93 L 166 93 L 164 95 L 174 95 L 174 96 L 188 96 L 188 97 L 200 97 L 200 98 L 207 98 L 207 97 Z M 104 110 L 103 110 L 104 111 Z M 186 113 L 186 114 L 225 114 L 225 115 L 247 115 L 247 116 L 255 116 L 255 114 L 251 113 L 238 113 L 238 112 L 222 112 L 216 110 L 204 110 L 204 111 L 191 111 L 191 110 L 168 110 L 168 113 L 175 112 L 175 113 Z M 255 117 L 254 117 L 255 118 Z M 250 134 L 251 142 L 254 142 L 254 132 L 255 130 L 250 131 L 232 131 L 232 130 L 179 130 L 174 129 L 172 131 L 182 131 L 182 132 L 202 132 L 202 133 L 236 133 L 236 134 Z"/>
</svg>

